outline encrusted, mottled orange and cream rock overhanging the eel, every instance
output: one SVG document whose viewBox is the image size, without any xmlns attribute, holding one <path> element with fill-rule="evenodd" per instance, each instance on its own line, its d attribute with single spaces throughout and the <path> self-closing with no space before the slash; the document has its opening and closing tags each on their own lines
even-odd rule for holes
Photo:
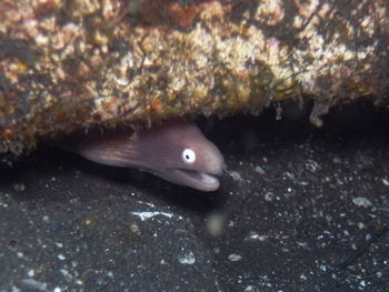
<svg viewBox="0 0 389 292">
<path fill-rule="evenodd" d="M 97 123 L 260 111 L 313 115 L 388 89 L 386 0 L 2 0 L 0 152 Z"/>
</svg>

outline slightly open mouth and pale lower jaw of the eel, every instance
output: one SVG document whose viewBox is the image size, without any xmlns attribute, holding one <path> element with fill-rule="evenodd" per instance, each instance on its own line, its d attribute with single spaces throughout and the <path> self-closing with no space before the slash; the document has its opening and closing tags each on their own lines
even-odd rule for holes
<svg viewBox="0 0 389 292">
<path fill-rule="evenodd" d="M 169 169 L 163 174 L 166 180 L 203 192 L 216 191 L 220 185 L 219 179 L 216 177 L 216 174 L 220 173 L 207 173 L 188 169 Z"/>
</svg>

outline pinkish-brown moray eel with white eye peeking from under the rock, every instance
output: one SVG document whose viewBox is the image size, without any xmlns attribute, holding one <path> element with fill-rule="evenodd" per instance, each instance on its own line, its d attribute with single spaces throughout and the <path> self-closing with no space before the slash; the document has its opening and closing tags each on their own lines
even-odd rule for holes
<svg viewBox="0 0 389 292">
<path fill-rule="evenodd" d="M 169 121 L 134 131 L 91 131 L 70 137 L 61 148 L 112 167 L 133 167 L 200 191 L 216 191 L 225 161 L 192 122 Z"/>
</svg>

